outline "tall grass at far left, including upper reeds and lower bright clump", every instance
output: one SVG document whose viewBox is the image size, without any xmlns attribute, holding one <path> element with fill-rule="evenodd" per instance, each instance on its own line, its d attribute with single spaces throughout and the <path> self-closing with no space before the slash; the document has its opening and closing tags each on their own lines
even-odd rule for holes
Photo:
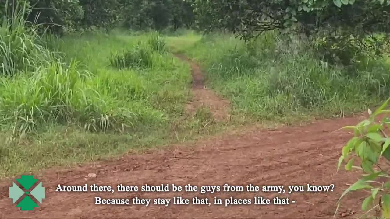
<svg viewBox="0 0 390 219">
<path fill-rule="evenodd" d="M 23 19 L 26 4 L 14 11 L 3 18 L 0 29 L 2 130 L 21 135 L 50 125 L 76 124 L 90 131 L 123 131 L 142 122 L 145 111 L 118 107 L 115 98 L 94 89 L 96 80 L 80 70 L 79 62 L 64 63 L 43 46 L 36 26 Z"/>
</svg>

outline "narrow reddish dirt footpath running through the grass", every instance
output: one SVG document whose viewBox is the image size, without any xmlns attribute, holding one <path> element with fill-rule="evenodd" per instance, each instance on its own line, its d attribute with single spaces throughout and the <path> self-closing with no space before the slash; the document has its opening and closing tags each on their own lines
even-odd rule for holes
<svg viewBox="0 0 390 219">
<path fill-rule="evenodd" d="M 190 64 L 192 74 L 192 100 L 186 105 L 186 110 L 194 115 L 195 111 L 201 107 L 210 109 L 214 119 L 218 122 L 226 121 L 229 118 L 230 103 L 226 99 L 218 97 L 213 91 L 204 86 L 204 76 L 199 65 L 184 56 L 183 54 L 174 54 L 184 62 Z"/>
</svg>

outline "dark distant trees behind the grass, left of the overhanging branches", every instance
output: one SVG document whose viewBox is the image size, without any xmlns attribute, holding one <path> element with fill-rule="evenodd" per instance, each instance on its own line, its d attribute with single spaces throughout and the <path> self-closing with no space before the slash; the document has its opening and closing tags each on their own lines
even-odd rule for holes
<svg viewBox="0 0 390 219">
<path fill-rule="evenodd" d="M 22 2 L 32 7 L 28 21 L 55 34 L 93 27 L 110 30 L 117 26 L 176 30 L 190 27 L 194 20 L 191 4 L 183 0 L 11 0 L 7 1 L 9 13 Z M 0 16 L 4 16 L 5 5 L 0 3 Z"/>
</svg>

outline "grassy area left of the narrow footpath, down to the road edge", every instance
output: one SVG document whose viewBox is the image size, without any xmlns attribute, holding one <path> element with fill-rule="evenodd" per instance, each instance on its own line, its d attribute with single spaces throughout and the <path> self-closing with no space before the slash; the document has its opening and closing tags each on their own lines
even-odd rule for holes
<svg viewBox="0 0 390 219">
<path fill-rule="evenodd" d="M 185 115 L 190 68 L 157 33 L 46 41 L 45 62 L 1 79 L 0 178 L 213 132 L 207 113 Z"/>
</svg>

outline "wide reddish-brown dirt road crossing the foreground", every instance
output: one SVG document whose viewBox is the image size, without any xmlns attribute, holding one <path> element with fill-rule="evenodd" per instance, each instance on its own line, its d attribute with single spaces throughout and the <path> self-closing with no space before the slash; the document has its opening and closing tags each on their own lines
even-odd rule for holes
<svg viewBox="0 0 390 219">
<path fill-rule="evenodd" d="M 194 72 L 196 72 L 194 70 Z M 194 74 L 195 75 L 195 74 Z M 196 78 L 196 77 L 195 77 Z M 197 84 L 194 81 L 194 85 Z M 196 87 L 196 86 L 195 86 Z M 201 96 L 200 96 L 201 97 Z M 331 218 L 335 203 L 356 181 L 353 173 L 336 174 L 336 165 L 343 144 L 351 137 L 348 133 L 335 133 L 344 125 L 356 124 L 361 118 L 323 120 L 300 127 L 282 127 L 277 130 L 259 130 L 246 127 L 240 131 L 199 140 L 188 145 L 133 154 L 113 161 L 98 162 L 69 170 L 47 170 L 39 179 L 46 187 L 46 198 L 34 212 L 21 212 L 8 198 L 11 180 L 0 183 L 0 218 Z M 87 177 L 95 173 L 96 177 Z M 68 193 L 55 192 L 62 185 L 330 185 L 328 193 L 227 193 L 200 194 L 200 192 L 166 193 Z M 354 217 L 345 212 L 358 211 L 365 194 L 348 196 L 342 218 Z M 94 205 L 94 197 L 101 198 L 173 198 L 230 197 L 272 199 L 289 197 L 290 205 L 173 205 L 168 207 L 144 205 Z M 361 199 L 361 200 L 359 200 Z M 340 215 L 338 215 L 341 217 Z M 345 217 L 344 217 L 345 216 Z"/>
</svg>

